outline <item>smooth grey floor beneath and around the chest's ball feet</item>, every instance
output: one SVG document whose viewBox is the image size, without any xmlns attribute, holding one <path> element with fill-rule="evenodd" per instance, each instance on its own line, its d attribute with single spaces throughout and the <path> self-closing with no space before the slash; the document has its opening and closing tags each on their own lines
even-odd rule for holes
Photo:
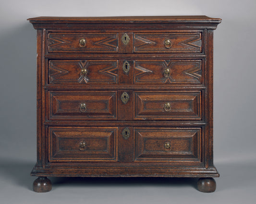
<svg viewBox="0 0 256 204">
<path fill-rule="evenodd" d="M 256 161 L 215 163 L 214 193 L 196 190 L 191 178 L 56 178 L 52 190 L 35 193 L 35 162 L 0 159 L 1 204 L 255 204 Z"/>
</svg>

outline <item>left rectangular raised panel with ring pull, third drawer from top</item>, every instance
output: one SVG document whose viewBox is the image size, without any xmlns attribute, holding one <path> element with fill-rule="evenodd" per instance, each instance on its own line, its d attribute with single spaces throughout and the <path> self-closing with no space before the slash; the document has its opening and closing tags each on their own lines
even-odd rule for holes
<svg viewBox="0 0 256 204">
<path fill-rule="evenodd" d="M 116 91 L 49 91 L 49 119 L 117 119 Z"/>
</svg>

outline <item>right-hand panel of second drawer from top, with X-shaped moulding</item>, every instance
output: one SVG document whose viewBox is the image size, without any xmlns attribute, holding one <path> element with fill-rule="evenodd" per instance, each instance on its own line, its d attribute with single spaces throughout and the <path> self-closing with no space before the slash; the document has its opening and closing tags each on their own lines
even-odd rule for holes
<svg viewBox="0 0 256 204">
<path fill-rule="evenodd" d="M 201 84 L 202 60 L 135 60 L 134 84 Z"/>
</svg>

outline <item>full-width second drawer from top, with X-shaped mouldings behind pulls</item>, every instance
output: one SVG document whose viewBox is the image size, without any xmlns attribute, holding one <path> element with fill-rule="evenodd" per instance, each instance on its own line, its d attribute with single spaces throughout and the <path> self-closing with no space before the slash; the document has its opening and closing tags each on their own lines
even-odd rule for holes
<svg viewBox="0 0 256 204">
<path fill-rule="evenodd" d="M 49 84 L 201 84 L 202 60 L 49 60 L 48 77 Z"/>
</svg>

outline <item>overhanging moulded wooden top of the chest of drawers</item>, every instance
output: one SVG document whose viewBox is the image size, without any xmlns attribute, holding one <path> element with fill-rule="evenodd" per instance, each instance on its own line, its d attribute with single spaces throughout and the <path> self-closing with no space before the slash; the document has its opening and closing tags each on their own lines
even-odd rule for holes
<svg viewBox="0 0 256 204">
<path fill-rule="evenodd" d="M 30 23 L 32 23 L 35 29 L 42 28 L 81 28 L 81 24 L 92 24 L 92 23 L 105 23 L 108 25 L 108 28 L 113 27 L 109 23 L 114 23 L 114 25 L 126 26 L 129 24 L 131 28 L 131 24 L 134 26 L 136 24 L 145 24 L 145 23 L 168 23 L 175 24 L 176 27 L 184 27 L 185 24 L 190 24 L 190 26 L 195 27 L 208 27 L 212 29 L 216 29 L 217 25 L 221 22 L 219 18 L 210 18 L 207 16 L 199 15 L 199 16 L 121 16 L 121 17 L 36 17 L 27 19 Z M 80 27 L 79 27 L 80 26 Z M 122 28 L 119 25 L 119 28 Z M 186 25 L 186 27 L 189 25 Z M 94 27 L 91 27 L 91 29 Z M 114 27 L 113 27 L 114 28 Z M 116 27 L 115 27 L 116 28 Z M 135 26 L 135 28 L 138 28 Z M 162 28 L 161 26 L 153 27 L 155 29 Z M 153 29 L 152 28 L 152 29 Z M 188 28 L 188 27 L 187 27 Z M 150 28 L 147 28 L 150 29 Z"/>
</svg>

